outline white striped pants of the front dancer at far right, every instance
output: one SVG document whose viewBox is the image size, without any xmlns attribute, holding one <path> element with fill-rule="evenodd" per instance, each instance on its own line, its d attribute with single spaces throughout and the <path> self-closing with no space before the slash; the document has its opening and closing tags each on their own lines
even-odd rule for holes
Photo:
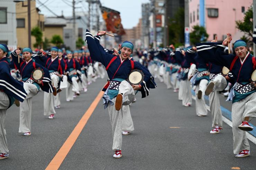
<svg viewBox="0 0 256 170">
<path fill-rule="evenodd" d="M 256 92 L 250 94 L 245 99 L 232 104 L 232 130 L 233 130 L 233 151 L 238 154 L 242 150 L 250 150 L 249 142 L 246 138 L 246 131 L 240 130 L 238 126 L 245 117 L 249 120 L 256 117 Z"/>
</svg>

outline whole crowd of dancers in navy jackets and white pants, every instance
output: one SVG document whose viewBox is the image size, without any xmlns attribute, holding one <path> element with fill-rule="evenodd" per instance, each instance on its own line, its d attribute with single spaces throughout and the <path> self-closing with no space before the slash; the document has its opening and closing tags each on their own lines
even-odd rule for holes
<svg viewBox="0 0 256 170">
<path fill-rule="evenodd" d="M 219 43 L 217 39 L 208 43 L 198 43 L 186 49 L 170 46 L 165 49 L 134 50 L 131 42 L 125 41 L 118 50 L 104 49 L 100 38 L 86 30 L 88 50 L 65 51 L 52 47 L 33 52 L 30 48 L 8 51 L 6 44 L 0 44 L 0 159 L 8 158 L 9 150 L 4 129 L 6 110 L 15 103 L 20 107 L 19 132 L 31 135 L 32 98 L 41 89 L 44 91 L 44 115 L 54 119 L 55 109 L 61 107 L 60 93 L 66 88 L 66 101 L 71 101 L 86 92 L 87 86 L 97 78 L 108 81 L 103 88 L 104 109 L 108 108 L 112 126 L 114 158 L 121 158 L 122 134 L 134 130 L 129 105 L 135 102 L 135 94 L 140 91 L 142 98 L 149 95 L 149 89 L 156 88 L 154 77 L 166 84 L 167 89 L 178 92 L 178 99 L 184 107 L 192 105 L 192 90 L 195 91 L 195 113 L 207 116 L 204 96 L 209 96 L 212 115 L 210 134 L 220 133 L 222 114 L 219 92 L 230 87 L 227 101 L 232 101 L 233 148 L 236 157 L 250 156 L 250 146 L 246 131 L 253 130 L 248 123 L 256 116 L 256 87 L 251 76 L 256 69 L 256 59 L 247 50 L 243 40 L 234 43 L 234 54 L 225 49 L 232 37 Z M 137 53 L 139 61 L 134 61 L 132 53 Z M 9 56 L 10 55 L 10 56 Z M 35 81 L 31 72 L 40 68 L 42 79 Z M 228 70 L 224 73 L 225 68 Z M 131 70 L 140 70 L 144 79 L 139 84 L 131 84 L 127 77 Z M 191 90 L 192 89 L 192 90 Z"/>
</svg>

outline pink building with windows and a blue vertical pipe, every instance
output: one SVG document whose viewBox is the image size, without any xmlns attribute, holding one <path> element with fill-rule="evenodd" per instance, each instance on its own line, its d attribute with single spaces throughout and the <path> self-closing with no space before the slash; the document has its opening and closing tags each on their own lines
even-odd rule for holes
<svg viewBox="0 0 256 170">
<path fill-rule="evenodd" d="M 228 32 L 233 40 L 240 39 L 244 33 L 236 28 L 235 21 L 243 20 L 244 12 L 252 4 L 253 0 L 189 0 L 190 31 L 193 26 L 200 25 L 206 28 L 209 41 L 215 35 L 223 40 Z"/>
</svg>

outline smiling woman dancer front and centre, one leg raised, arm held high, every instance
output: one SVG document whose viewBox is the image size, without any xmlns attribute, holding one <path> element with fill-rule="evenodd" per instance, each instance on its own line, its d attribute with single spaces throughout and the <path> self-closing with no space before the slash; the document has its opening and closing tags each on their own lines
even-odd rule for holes
<svg viewBox="0 0 256 170">
<path fill-rule="evenodd" d="M 122 147 L 122 106 L 130 104 L 135 97 L 134 90 L 145 90 L 146 83 L 150 79 L 150 74 L 144 68 L 140 67 L 136 62 L 129 60 L 134 48 L 131 42 L 125 41 L 121 46 L 121 54 L 115 57 L 107 53 L 100 45 L 99 40 L 104 36 L 106 31 L 99 32 L 95 38 L 86 30 L 86 41 L 88 49 L 93 60 L 101 62 L 107 70 L 108 77 L 111 79 L 104 94 L 105 108 L 108 107 L 110 122 L 112 124 L 113 146 L 115 151 L 114 158 L 121 158 Z M 130 85 L 126 79 L 133 69 L 139 69 L 144 73 L 144 81 L 139 85 Z"/>
</svg>

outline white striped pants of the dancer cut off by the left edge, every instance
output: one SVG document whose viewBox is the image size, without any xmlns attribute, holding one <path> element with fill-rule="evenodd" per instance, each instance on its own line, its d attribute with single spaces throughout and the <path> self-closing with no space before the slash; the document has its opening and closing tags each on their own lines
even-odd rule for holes
<svg viewBox="0 0 256 170">
<path fill-rule="evenodd" d="M 9 107 L 10 101 L 7 94 L 2 91 L 0 91 L 0 98 L 0 153 L 9 153 L 4 120 L 6 118 L 6 110 Z"/>
</svg>

